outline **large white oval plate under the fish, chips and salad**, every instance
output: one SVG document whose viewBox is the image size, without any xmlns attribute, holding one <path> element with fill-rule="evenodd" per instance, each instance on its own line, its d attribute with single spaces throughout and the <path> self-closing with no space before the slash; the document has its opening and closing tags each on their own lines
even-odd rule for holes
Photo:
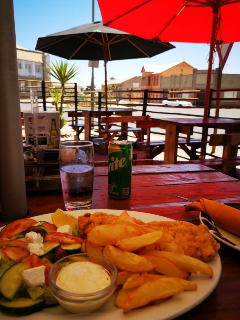
<svg viewBox="0 0 240 320">
<path fill-rule="evenodd" d="M 122 210 L 105 210 L 105 209 L 94 209 L 94 210 L 80 210 L 70 212 L 72 215 L 79 216 L 83 215 L 86 212 L 106 212 L 109 214 L 120 215 Z M 141 219 L 144 222 L 150 221 L 171 221 L 162 216 L 155 214 L 137 212 L 137 211 L 128 211 L 131 217 Z M 43 214 L 41 216 L 33 217 L 36 220 L 52 222 L 51 214 Z M 173 220 L 172 220 L 173 221 Z M 196 307 L 200 302 L 206 299 L 210 293 L 214 290 L 216 285 L 219 282 L 221 276 L 221 260 L 219 254 L 209 262 L 209 265 L 213 269 L 213 277 L 210 279 L 208 276 L 201 275 L 191 275 L 189 280 L 196 282 L 197 290 L 196 291 L 185 291 L 176 296 L 173 296 L 168 301 L 163 303 L 146 307 L 140 309 L 134 309 L 126 314 L 123 313 L 122 309 L 119 309 L 115 306 L 114 301 L 116 294 L 111 296 L 111 298 L 98 310 L 92 313 L 85 314 L 72 314 L 62 307 L 57 306 L 54 308 L 44 308 L 40 312 L 33 313 L 28 316 L 22 316 L 21 319 L 24 320 L 73 320 L 76 319 L 82 320 L 169 320 L 174 319 L 177 316 L 182 315 L 183 313 L 189 311 L 190 309 Z M 1 320 L 10 320 L 12 315 L 6 315 L 1 313 Z M 19 318 L 19 317 L 18 317 Z"/>
</svg>

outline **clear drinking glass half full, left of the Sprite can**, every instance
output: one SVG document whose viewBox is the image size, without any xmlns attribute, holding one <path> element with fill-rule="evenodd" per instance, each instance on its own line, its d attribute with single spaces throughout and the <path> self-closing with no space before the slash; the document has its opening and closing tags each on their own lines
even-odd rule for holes
<svg viewBox="0 0 240 320">
<path fill-rule="evenodd" d="M 89 209 L 93 188 L 93 143 L 75 140 L 60 142 L 59 161 L 66 210 Z"/>
</svg>

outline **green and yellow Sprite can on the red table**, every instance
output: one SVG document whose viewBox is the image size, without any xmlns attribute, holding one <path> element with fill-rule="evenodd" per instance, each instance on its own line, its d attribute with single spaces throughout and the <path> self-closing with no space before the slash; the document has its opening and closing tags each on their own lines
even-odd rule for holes
<svg viewBox="0 0 240 320">
<path fill-rule="evenodd" d="M 108 146 L 108 195 L 126 199 L 131 195 L 132 142 L 113 140 Z"/>
</svg>

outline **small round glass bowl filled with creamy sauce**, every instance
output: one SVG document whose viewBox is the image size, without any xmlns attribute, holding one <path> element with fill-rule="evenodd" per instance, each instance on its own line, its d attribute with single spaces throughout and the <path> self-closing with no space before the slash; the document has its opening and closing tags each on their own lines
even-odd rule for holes
<svg viewBox="0 0 240 320">
<path fill-rule="evenodd" d="M 117 269 L 107 258 L 78 253 L 54 263 L 49 288 L 59 304 L 73 313 L 100 308 L 116 289 Z"/>
</svg>

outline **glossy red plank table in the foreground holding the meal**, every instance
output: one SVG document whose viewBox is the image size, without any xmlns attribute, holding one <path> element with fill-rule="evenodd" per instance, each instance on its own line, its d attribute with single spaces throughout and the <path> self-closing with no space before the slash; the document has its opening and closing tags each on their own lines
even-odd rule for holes
<svg viewBox="0 0 240 320">
<path fill-rule="evenodd" d="M 184 212 L 188 202 L 174 195 L 240 203 L 240 181 L 201 164 L 133 166 L 132 195 L 125 200 L 108 197 L 107 167 L 94 171 L 92 209 L 134 210 L 199 224 L 199 212 Z M 54 212 L 57 208 L 64 210 L 60 192 L 31 194 L 27 204 L 29 216 Z M 221 244 L 219 254 L 222 261 L 219 284 L 208 298 L 178 320 L 239 319 L 240 252 Z"/>
</svg>

